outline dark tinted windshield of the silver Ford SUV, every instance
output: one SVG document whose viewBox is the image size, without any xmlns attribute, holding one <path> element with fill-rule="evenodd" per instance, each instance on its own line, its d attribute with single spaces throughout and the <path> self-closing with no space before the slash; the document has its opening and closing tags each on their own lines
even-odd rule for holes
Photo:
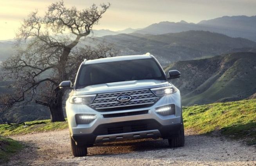
<svg viewBox="0 0 256 166">
<path fill-rule="evenodd" d="M 76 88 L 140 79 L 165 80 L 166 78 L 153 58 L 86 64 L 79 70 Z"/>
</svg>

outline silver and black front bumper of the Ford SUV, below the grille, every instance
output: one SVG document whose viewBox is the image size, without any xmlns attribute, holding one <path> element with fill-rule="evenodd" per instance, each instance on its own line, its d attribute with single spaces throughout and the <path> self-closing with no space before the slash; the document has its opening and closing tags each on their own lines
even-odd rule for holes
<svg viewBox="0 0 256 166">
<path fill-rule="evenodd" d="M 160 106 L 166 106 L 168 104 L 175 104 L 175 115 L 162 116 L 155 113 L 155 108 Z M 148 110 L 148 113 L 142 115 L 112 118 L 105 118 L 107 116 L 104 116 L 113 113 L 130 113 L 133 111 L 143 110 Z M 70 104 L 67 101 L 66 112 L 72 139 L 76 141 L 77 144 L 83 144 L 87 146 L 93 145 L 94 143 L 105 141 L 118 141 L 154 137 L 168 138 L 169 136 L 174 135 L 180 129 L 180 125 L 182 123 L 182 108 L 179 91 L 177 91 L 174 94 L 161 97 L 153 106 L 146 108 L 99 112 L 90 108 L 87 105 Z M 95 114 L 97 118 L 90 124 L 77 125 L 75 115 L 81 113 Z M 140 131 L 134 131 L 127 127 L 137 123 L 138 126 L 140 126 L 141 124 L 145 124 L 145 122 L 149 127 L 141 129 Z M 123 127 L 126 127 L 124 127 L 125 131 L 123 131 L 122 133 L 106 132 L 108 128 L 111 128 L 111 124 L 114 124 L 114 127 L 118 127 L 117 124 L 123 123 L 126 123 L 125 125 L 123 125 Z M 155 125 L 152 126 L 151 124 Z M 102 131 L 99 132 L 99 129 L 101 129 Z"/>
</svg>

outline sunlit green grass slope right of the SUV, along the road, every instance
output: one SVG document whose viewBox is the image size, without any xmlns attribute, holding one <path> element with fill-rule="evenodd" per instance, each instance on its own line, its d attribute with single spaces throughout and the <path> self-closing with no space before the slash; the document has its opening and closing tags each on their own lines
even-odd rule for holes
<svg viewBox="0 0 256 166">
<path fill-rule="evenodd" d="M 256 99 L 183 108 L 184 127 L 198 134 L 220 131 L 234 139 L 256 144 Z"/>
</svg>

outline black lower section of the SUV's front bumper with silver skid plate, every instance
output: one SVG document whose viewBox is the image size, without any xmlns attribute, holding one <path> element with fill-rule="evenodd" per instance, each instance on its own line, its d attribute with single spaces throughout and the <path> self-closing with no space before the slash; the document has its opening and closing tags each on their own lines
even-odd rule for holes
<svg viewBox="0 0 256 166">
<path fill-rule="evenodd" d="M 118 128 L 122 126 L 124 128 L 128 128 L 129 126 L 135 126 L 139 124 L 148 124 L 147 129 L 142 131 L 129 131 L 124 133 L 118 134 L 106 134 L 106 135 L 99 135 L 97 132 L 103 132 L 109 126 L 115 126 Z M 148 120 L 135 120 L 129 122 L 122 122 L 122 123 L 110 123 L 110 124 L 103 124 L 99 125 L 97 129 L 91 134 L 73 134 L 71 135 L 72 139 L 76 141 L 77 145 L 79 146 L 86 146 L 91 147 L 94 143 L 103 143 L 103 142 L 110 142 L 110 141 L 123 141 L 123 140 L 134 140 L 134 139 L 142 139 L 142 138 L 163 138 L 167 139 L 171 136 L 178 135 L 180 127 L 182 124 L 173 124 L 173 125 L 160 125 L 154 119 Z M 106 131 L 107 132 L 107 131 Z"/>
</svg>

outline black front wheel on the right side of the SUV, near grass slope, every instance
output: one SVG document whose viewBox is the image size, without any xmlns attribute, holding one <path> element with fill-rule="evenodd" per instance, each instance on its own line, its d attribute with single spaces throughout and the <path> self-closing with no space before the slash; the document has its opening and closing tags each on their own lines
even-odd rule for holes
<svg viewBox="0 0 256 166">
<path fill-rule="evenodd" d="M 170 148 L 177 148 L 177 147 L 183 147 L 185 142 L 185 135 L 184 135 L 184 125 L 182 120 L 182 125 L 180 127 L 178 136 L 172 136 L 168 139 L 169 147 Z"/>
</svg>

